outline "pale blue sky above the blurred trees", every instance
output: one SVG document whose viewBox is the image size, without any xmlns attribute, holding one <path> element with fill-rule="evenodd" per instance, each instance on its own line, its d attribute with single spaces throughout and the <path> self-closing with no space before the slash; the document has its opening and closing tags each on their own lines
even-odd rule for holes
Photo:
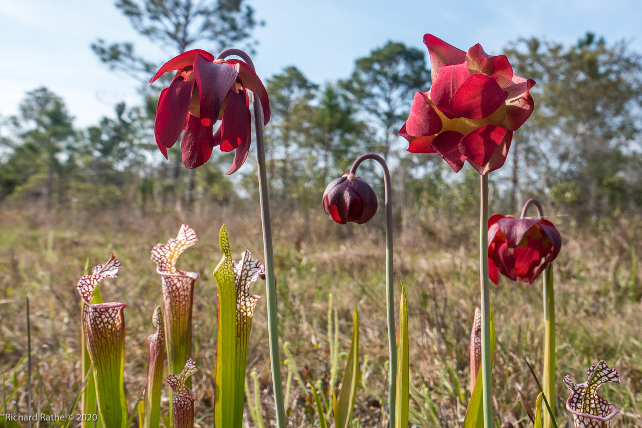
<svg viewBox="0 0 642 428">
<path fill-rule="evenodd" d="M 254 63 L 264 80 L 289 65 L 316 83 L 345 78 L 356 58 L 387 40 L 425 49 L 424 33 L 464 50 L 479 42 L 488 53 L 497 54 L 519 37 L 573 44 L 593 31 L 607 42 L 630 40 L 630 48 L 642 53 L 642 2 L 636 0 L 250 0 L 248 4 L 254 6 L 256 18 L 266 22 L 254 31 L 259 40 Z M 175 55 L 135 33 L 110 0 L 3 0 L 0 22 L 0 116 L 4 117 L 17 112 L 26 91 L 42 85 L 62 96 L 78 127 L 113 116 L 113 106 L 121 100 L 139 103 L 139 83 L 109 71 L 91 51 L 90 44 L 98 38 L 132 41 L 139 52 L 159 62 Z"/>
</svg>

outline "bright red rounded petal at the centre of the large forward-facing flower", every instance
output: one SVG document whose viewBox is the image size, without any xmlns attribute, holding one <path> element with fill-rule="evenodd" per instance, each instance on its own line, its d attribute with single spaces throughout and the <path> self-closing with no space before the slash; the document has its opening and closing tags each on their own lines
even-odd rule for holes
<svg viewBox="0 0 642 428">
<path fill-rule="evenodd" d="M 494 78 L 472 75 L 456 89 L 450 109 L 462 118 L 483 119 L 503 105 L 507 96 Z"/>
</svg>

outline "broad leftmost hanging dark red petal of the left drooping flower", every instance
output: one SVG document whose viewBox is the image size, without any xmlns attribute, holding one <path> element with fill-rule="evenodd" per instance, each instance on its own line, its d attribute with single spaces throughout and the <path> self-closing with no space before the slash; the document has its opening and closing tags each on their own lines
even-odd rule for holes
<svg viewBox="0 0 642 428">
<path fill-rule="evenodd" d="M 187 118 L 193 87 L 194 81 L 185 82 L 179 77 L 160 94 L 154 122 L 154 134 L 159 146 L 172 147 L 176 143 Z"/>
</svg>

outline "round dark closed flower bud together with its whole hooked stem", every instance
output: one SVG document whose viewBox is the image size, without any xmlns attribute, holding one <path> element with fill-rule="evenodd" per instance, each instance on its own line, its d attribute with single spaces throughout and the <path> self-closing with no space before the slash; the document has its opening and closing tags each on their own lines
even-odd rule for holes
<svg viewBox="0 0 642 428">
<path fill-rule="evenodd" d="M 374 159 L 383 170 L 383 186 L 386 208 L 386 316 L 388 319 L 388 400 L 390 400 L 390 423 L 395 421 L 395 382 L 397 380 L 397 344 L 395 338 L 394 289 L 392 281 L 392 188 L 390 172 L 385 159 L 377 154 L 364 154 L 354 161 L 348 174 L 334 179 L 325 188 L 323 206 L 334 221 L 345 224 L 348 221 L 362 224 L 370 220 L 377 211 L 377 198 L 369 184 L 357 177 L 361 162 Z"/>
</svg>

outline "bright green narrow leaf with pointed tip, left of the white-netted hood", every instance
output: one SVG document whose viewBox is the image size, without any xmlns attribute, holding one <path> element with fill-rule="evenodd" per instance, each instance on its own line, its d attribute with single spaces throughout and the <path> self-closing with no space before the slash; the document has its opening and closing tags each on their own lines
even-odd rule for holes
<svg viewBox="0 0 642 428">
<path fill-rule="evenodd" d="M 221 227 L 219 242 L 223 258 L 214 270 L 218 287 L 214 426 L 232 428 L 236 397 L 236 281 L 225 225 Z"/>
</svg>

